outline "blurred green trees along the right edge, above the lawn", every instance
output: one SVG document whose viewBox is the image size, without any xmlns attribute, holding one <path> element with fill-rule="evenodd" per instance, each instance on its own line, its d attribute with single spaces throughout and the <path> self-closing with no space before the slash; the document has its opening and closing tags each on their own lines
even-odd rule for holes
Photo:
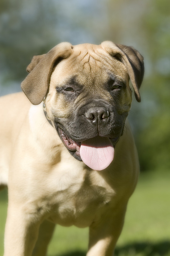
<svg viewBox="0 0 170 256">
<path fill-rule="evenodd" d="M 141 25 L 151 71 L 145 78 L 147 125 L 137 137 L 141 169 L 170 168 L 170 2 L 152 0 Z M 150 104 L 148 104 L 150 102 Z M 152 104 L 151 104 L 152 102 Z M 149 105 L 154 106 L 152 111 Z M 152 115 L 151 115 L 152 113 Z"/>
</svg>

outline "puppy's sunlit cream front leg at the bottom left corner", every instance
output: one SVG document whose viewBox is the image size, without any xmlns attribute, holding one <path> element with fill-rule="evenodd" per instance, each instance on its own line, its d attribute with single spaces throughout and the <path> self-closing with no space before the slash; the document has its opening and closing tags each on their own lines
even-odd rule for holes
<svg viewBox="0 0 170 256">
<path fill-rule="evenodd" d="M 5 225 L 4 256 L 31 256 L 40 226 L 20 205 L 9 205 Z"/>
</svg>

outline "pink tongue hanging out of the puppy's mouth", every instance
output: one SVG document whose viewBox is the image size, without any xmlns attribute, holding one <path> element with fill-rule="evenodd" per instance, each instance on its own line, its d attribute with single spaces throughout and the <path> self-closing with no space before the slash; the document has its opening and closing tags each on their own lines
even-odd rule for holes
<svg viewBox="0 0 170 256">
<path fill-rule="evenodd" d="M 84 140 L 80 147 L 82 161 L 96 171 L 105 169 L 114 158 L 114 147 L 107 137 Z"/>
</svg>

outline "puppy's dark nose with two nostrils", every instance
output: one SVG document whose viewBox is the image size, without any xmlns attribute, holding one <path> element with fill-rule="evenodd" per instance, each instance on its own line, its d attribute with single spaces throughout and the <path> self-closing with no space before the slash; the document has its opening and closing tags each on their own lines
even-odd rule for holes
<svg viewBox="0 0 170 256">
<path fill-rule="evenodd" d="M 85 117 L 92 123 L 100 123 L 109 117 L 109 111 L 105 107 L 92 107 L 85 112 Z"/>
</svg>

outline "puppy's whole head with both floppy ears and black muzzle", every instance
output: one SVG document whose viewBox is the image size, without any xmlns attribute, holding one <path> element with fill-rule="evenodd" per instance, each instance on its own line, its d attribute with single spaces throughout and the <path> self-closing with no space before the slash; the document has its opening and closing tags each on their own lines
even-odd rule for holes
<svg viewBox="0 0 170 256">
<path fill-rule="evenodd" d="M 49 119 L 69 152 L 81 160 L 85 152 L 94 154 L 92 148 L 108 149 L 119 140 L 132 100 L 129 79 L 140 101 L 144 64 L 132 47 L 109 41 L 61 43 L 34 56 L 27 71 L 22 90 L 34 105 L 45 97 Z"/>
</svg>

